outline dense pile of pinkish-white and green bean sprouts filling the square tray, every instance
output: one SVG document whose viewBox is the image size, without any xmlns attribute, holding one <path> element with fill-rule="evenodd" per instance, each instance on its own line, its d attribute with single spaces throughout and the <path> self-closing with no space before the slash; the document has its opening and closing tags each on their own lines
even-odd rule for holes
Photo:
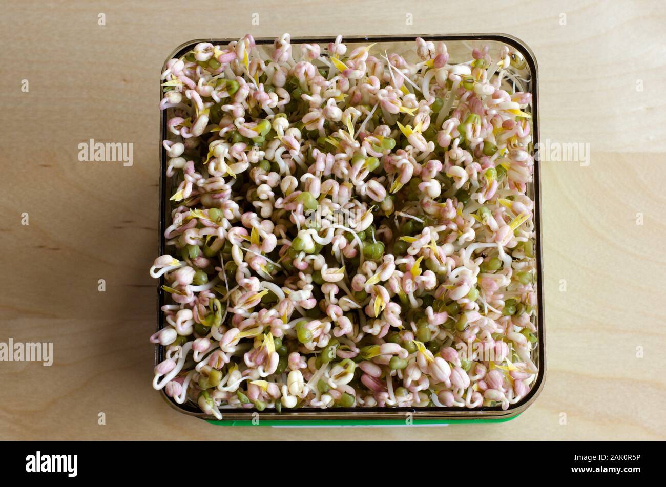
<svg viewBox="0 0 666 487">
<path fill-rule="evenodd" d="M 199 43 L 162 75 L 174 188 L 153 387 L 224 408 L 496 407 L 537 367 L 525 61 Z M 523 75 L 525 76 L 525 75 Z"/>
</svg>

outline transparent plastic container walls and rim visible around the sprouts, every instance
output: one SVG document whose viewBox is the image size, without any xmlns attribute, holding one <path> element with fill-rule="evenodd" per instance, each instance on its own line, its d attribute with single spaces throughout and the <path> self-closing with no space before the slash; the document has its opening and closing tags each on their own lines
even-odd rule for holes
<svg viewBox="0 0 666 487">
<path fill-rule="evenodd" d="M 503 47 L 508 47 L 509 51 L 517 53 L 518 58 L 515 60 L 517 62 L 512 63 L 510 67 L 505 69 L 505 75 L 503 75 L 503 81 L 501 88 L 506 90 L 509 93 L 514 91 L 524 91 L 532 93 L 532 102 L 531 102 L 531 114 L 532 114 L 532 132 L 533 132 L 533 145 L 537 145 L 538 142 L 538 96 L 537 96 L 537 65 L 533 57 L 533 54 L 529 48 L 521 41 L 506 35 L 501 34 L 488 34 L 488 35 L 442 35 L 442 36 L 421 36 L 426 41 L 432 41 L 436 45 L 440 41 L 446 43 L 447 51 L 450 55 L 449 64 L 460 64 L 460 63 L 471 63 L 474 61 L 472 57 L 473 49 L 483 49 L 484 46 L 488 46 L 488 53 L 490 54 L 493 62 L 497 61 L 500 58 L 500 51 Z M 368 46 L 371 43 L 376 43 L 372 47 L 371 54 L 380 57 L 386 53 L 397 53 L 404 57 L 406 61 L 410 63 L 416 63 L 420 61 L 418 55 L 416 54 L 416 37 L 346 37 L 343 39 L 343 42 L 347 46 L 347 53 L 351 53 L 356 47 Z M 234 39 L 236 40 L 236 39 Z M 308 39 L 296 39 L 292 37 L 292 52 L 294 57 L 300 54 L 299 45 L 302 43 L 319 43 L 322 46 L 322 53 L 324 53 L 324 48 L 328 45 L 329 42 L 334 41 L 334 37 L 330 38 L 308 38 Z M 260 46 L 260 49 L 263 49 L 266 53 L 266 58 L 270 57 L 270 53 L 273 51 L 272 43 L 274 39 L 255 39 L 256 44 Z M 198 39 L 196 41 L 191 41 L 185 43 L 184 45 L 178 47 L 176 51 L 172 53 L 167 59 L 172 57 L 180 57 L 190 51 L 196 43 L 199 42 L 212 42 L 213 44 L 227 45 L 230 42 L 230 39 Z M 384 54 L 385 55 L 385 54 Z M 522 59 L 521 59 L 521 58 Z M 165 61 L 166 64 L 166 61 Z M 318 64 L 318 67 L 326 69 L 326 67 L 321 63 Z M 162 90 L 160 90 L 160 95 L 162 96 Z M 455 108 L 455 104 L 452 108 Z M 162 116 L 162 139 L 167 138 L 168 134 L 166 132 L 166 116 L 167 114 L 163 112 Z M 161 142 L 160 140 L 160 142 Z M 533 155 L 533 154 L 532 154 Z M 177 185 L 175 178 L 167 178 L 165 174 L 166 169 L 166 153 L 162 151 L 162 173 L 161 173 L 161 225 L 160 225 L 160 235 L 159 235 L 159 250 L 160 255 L 168 252 L 168 249 L 165 249 L 165 238 L 164 232 L 166 227 L 170 222 L 170 209 L 171 205 L 168 201 L 168 198 L 173 194 L 173 190 Z M 543 377 L 545 375 L 545 354 L 544 354 L 544 333 L 543 333 L 543 286 L 542 286 L 542 263 L 541 263 L 541 218 L 540 218 L 540 198 L 539 198 L 539 167 L 538 164 L 534 165 L 534 178 L 533 182 L 527 185 L 527 196 L 535 202 L 535 233 L 536 233 L 536 258 L 537 258 L 537 312 L 535 315 L 535 325 L 537 327 L 538 341 L 536 347 L 533 348 L 532 357 L 534 363 L 537 365 L 539 372 L 535 377 L 535 380 L 531 384 L 530 393 L 522 399 L 519 403 L 511 405 L 507 410 L 501 410 L 500 406 L 482 406 L 480 408 L 467 409 L 467 408 L 446 408 L 446 407 L 427 407 L 427 408 L 334 408 L 334 409 L 307 409 L 301 408 L 298 410 L 285 410 L 282 409 L 281 413 L 275 412 L 273 410 L 264 410 L 260 413 L 262 418 L 266 420 L 297 420 L 302 421 L 303 424 L 306 424 L 308 420 L 368 420 L 368 423 L 371 423 L 376 420 L 395 420 L 397 418 L 405 418 L 406 412 L 413 412 L 414 418 L 423 418 L 427 420 L 440 419 L 442 422 L 456 420 L 456 419 L 491 419 L 491 418 L 509 418 L 515 416 L 525 410 L 533 400 L 536 398 L 538 393 L 541 390 Z M 163 282 L 161 282 L 162 284 Z M 165 304 L 167 297 L 165 292 L 159 289 L 159 303 L 158 303 L 158 329 L 163 327 L 164 318 L 163 313 L 160 311 L 160 307 Z M 157 347 L 155 353 L 156 363 L 163 359 L 163 349 L 162 347 Z M 171 399 L 163 396 L 165 400 L 174 408 L 177 408 L 181 412 L 190 414 L 192 416 L 198 416 L 200 418 L 212 419 L 212 416 L 203 414 L 193 405 L 176 405 Z M 248 420 L 251 418 L 252 412 L 256 412 L 254 409 L 230 409 L 225 408 L 222 410 L 225 420 Z"/>
</svg>

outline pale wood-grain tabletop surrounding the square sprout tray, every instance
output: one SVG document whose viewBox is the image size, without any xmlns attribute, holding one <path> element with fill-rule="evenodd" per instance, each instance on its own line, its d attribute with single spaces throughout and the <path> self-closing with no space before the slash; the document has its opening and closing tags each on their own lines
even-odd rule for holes
<svg viewBox="0 0 666 487">
<path fill-rule="evenodd" d="M 52 341 L 55 358 L 52 367 L 0 362 L 0 438 L 666 438 L 663 3 L 298 3 L 3 2 L 0 341 Z M 547 374 L 519 418 L 446 428 L 215 427 L 151 389 L 157 76 L 184 41 L 247 32 L 502 32 L 533 49 L 541 137 L 589 143 L 590 164 L 542 163 Z M 134 165 L 79 162 L 77 144 L 89 138 L 133 142 Z"/>
</svg>

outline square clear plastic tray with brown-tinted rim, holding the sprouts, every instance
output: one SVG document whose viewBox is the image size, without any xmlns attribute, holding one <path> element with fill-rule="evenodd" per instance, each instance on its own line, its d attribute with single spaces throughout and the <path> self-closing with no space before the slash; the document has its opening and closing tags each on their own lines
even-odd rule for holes
<svg viewBox="0 0 666 487">
<path fill-rule="evenodd" d="M 453 35 L 400 35 L 400 36 L 375 36 L 375 37 L 344 37 L 344 43 L 351 52 L 356 47 L 377 43 L 376 49 L 390 53 L 406 53 L 414 51 L 414 41 L 416 37 L 422 37 L 427 41 L 444 41 L 450 54 L 450 63 L 460 63 L 470 59 L 470 53 L 474 48 L 488 46 L 492 53 L 497 53 L 501 47 L 507 46 L 513 51 L 521 53 L 525 61 L 520 69 L 511 67 L 512 82 L 517 84 L 516 88 L 521 91 L 531 92 L 531 115 L 532 115 L 532 134 L 533 147 L 538 146 L 539 142 L 539 97 L 538 97 L 538 68 L 532 51 L 522 41 L 505 34 L 453 34 Z M 210 42 L 213 44 L 228 44 L 236 39 L 196 39 L 180 45 L 165 60 L 178 58 L 192 50 L 200 42 Z M 319 43 L 326 45 L 334 41 L 334 37 L 320 38 L 298 38 L 292 37 L 292 46 L 301 43 Z M 255 39 L 257 45 L 272 45 L 273 38 Z M 164 68 L 163 68 L 164 69 Z M 158 77 L 159 80 L 159 77 Z M 159 84 L 159 83 L 158 83 Z M 162 86 L 160 86 L 160 99 L 163 96 Z M 166 132 L 166 110 L 161 112 L 161 139 L 167 138 Z M 532 154 L 533 155 L 533 154 Z M 160 177 L 160 224 L 159 224 L 159 254 L 166 253 L 165 249 L 165 229 L 168 226 L 167 221 L 170 216 L 169 196 L 172 194 L 174 180 L 166 176 L 166 151 L 161 151 L 161 177 Z M 509 406 L 507 410 L 502 410 L 500 406 L 482 406 L 479 408 L 458 408 L 458 407 L 426 407 L 426 408 L 299 408 L 296 410 L 285 410 L 277 412 L 276 410 L 264 410 L 258 412 L 255 409 L 244 408 L 225 408 L 222 410 L 223 419 L 214 420 L 212 416 L 204 414 L 196 406 L 178 405 L 161 391 L 166 402 L 178 411 L 196 416 L 212 422 L 214 424 L 263 424 L 263 425 L 296 425 L 296 426 L 318 426 L 328 425 L 372 425 L 372 424 L 446 424 L 450 422 L 501 422 L 514 418 L 523 412 L 541 392 L 545 377 L 545 337 L 544 337 L 544 309 L 543 309 L 543 262 L 541 259 L 541 171 L 540 163 L 535 161 L 533 166 L 533 182 L 527 186 L 527 196 L 535 202 L 534 220 L 535 220 L 535 257 L 536 262 L 536 293 L 537 309 L 535 315 L 535 325 L 537 327 L 537 346 L 533 348 L 533 361 L 538 367 L 537 377 L 531 384 L 529 393 L 519 403 Z M 164 326 L 164 315 L 161 307 L 166 303 L 166 293 L 161 289 L 164 278 L 160 279 L 157 293 L 157 329 Z M 163 347 L 156 347 L 155 364 L 163 360 Z M 258 415 L 258 416 L 257 416 Z M 258 420 L 257 420 L 258 419 Z"/>
</svg>

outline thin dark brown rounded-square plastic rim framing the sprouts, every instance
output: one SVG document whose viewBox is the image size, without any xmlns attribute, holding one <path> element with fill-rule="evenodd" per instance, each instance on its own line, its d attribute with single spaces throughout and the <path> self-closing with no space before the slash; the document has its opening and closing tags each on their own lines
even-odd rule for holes
<svg viewBox="0 0 666 487">
<path fill-rule="evenodd" d="M 345 43 L 372 43 L 372 42 L 406 42 L 414 41 L 416 37 L 422 37 L 428 41 L 496 41 L 503 43 L 513 49 L 519 51 L 525 63 L 529 67 L 530 73 L 530 91 L 532 94 L 532 134 L 533 134 L 533 147 L 537 147 L 539 143 L 539 67 L 532 50 L 523 41 L 508 34 L 502 33 L 486 33 L 486 34 L 442 34 L 442 35 L 370 35 L 370 36 L 344 36 Z M 324 37 L 292 37 L 291 42 L 294 44 L 300 43 L 328 43 L 334 41 L 335 35 Z M 163 69 L 169 59 L 180 57 L 187 51 L 190 51 L 194 45 L 201 42 L 210 42 L 214 44 L 227 44 L 237 39 L 194 39 L 182 43 L 174 51 L 166 57 L 163 63 Z M 257 44 L 265 45 L 272 44 L 273 37 L 256 38 L 254 41 Z M 163 97 L 162 86 L 160 86 L 160 99 Z M 162 141 L 165 140 L 166 134 L 166 110 L 161 110 L 160 113 L 160 146 Z M 161 150 L 161 164 L 160 164 L 160 201 L 159 201 L 159 254 L 165 253 L 165 204 L 168 201 L 166 198 L 166 150 Z M 228 425 L 249 425 L 252 424 L 252 414 L 259 414 L 259 424 L 276 425 L 276 424 L 292 424 L 306 426 L 308 424 L 315 426 L 322 423 L 334 424 L 399 424 L 404 422 L 406 416 L 412 414 L 414 423 L 416 424 L 442 424 L 449 422 L 502 422 L 515 418 L 527 407 L 533 404 L 539 393 L 543 389 L 545 381 L 545 309 L 543 300 L 543 257 L 542 257 L 542 239 L 541 239 L 541 166 L 540 162 L 535 161 L 533 165 L 533 200 L 534 200 L 534 216 L 535 216 L 535 238 L 536 238 L 536 255 L 537 255 L 537 331 L 538 331 L 538 372 L 537 377 L 529 391 L 529 393 L 515 405 L 509 406 L 507 410 L 502 410 L 500 406 L 467 409 L 467 408 L 448 408 L 448 407 L 427 407 L 427 408 L 334 408 L 334 409 L 318 409 L 318 408 L 300 408 L 298 410 L 282 410 L 277 412 L 275 410 L 264 410 L 258 412 L 256 409 L 244 408 L 224 408 L 222 412 L 222 420 L 214 420 L 208 414 L 204 414 L 196 408 L 185 404 L 178 405 L 170 399 L 164 389 L 160 391 L 163 399 L 178 412 L 187 414 L 188 416 L 195 416 L 204 419 L 212 424 L 228 424 Z M 161 307 L 165 304 L 165 291 L 161 285 L 164 283 L 164 277 L 159 280 L 157 286 L 157 329 L 159 331 L 164 326 L 164 314 Z M 155 347 L 155 365 L 163 360 L 163 347 L 157 345 Z M 256 416 L 254 416 L 256 418 Z"/>
</svg>

